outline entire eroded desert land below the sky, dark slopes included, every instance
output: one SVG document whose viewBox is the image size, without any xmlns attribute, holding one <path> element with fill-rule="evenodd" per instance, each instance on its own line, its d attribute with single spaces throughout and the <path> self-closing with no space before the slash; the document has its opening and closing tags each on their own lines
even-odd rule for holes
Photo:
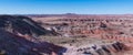
<svg viewBox="0 0 133 55">
<path fill-rule="evenodd" d="M 133 55 L 133 14 L 0 15 L 0 55 Z"/>
</svg>

